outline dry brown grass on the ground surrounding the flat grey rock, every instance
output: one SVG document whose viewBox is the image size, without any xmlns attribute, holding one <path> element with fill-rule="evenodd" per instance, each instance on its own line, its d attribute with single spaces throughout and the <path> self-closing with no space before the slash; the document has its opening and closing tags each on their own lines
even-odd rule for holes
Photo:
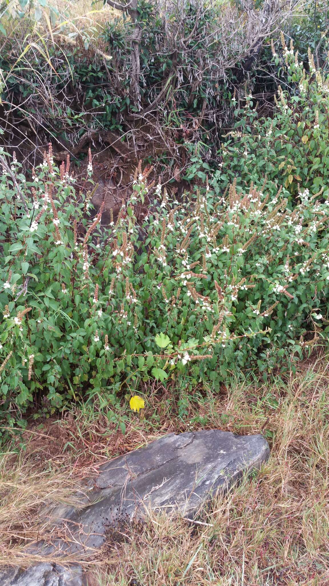
<svg viewBox="0 0 329 586">
<path fill-rule="evenodd" d="M 1 496 L 5 498 L 0 519 L 2 560 L 5 553 L 11 555 L 11 539 L 13 544 L 22 544 L 35 538 L 37 510 L 49 500 L 67 498 L 75 478 L 88 469 L 95 473 L 95 462 L 167 431 L 219 427 L 265 433 L 271 447 L 268 464 L 229 495 L 218 497 L 201 516 L 205 524 L 150 513 L 143 526 L 121 526 L 109 532 L 100 556 L 88 560 L 93 576 L 90 583 L 329 584 L 328 383 L 328 364 L 321 362 L 320 367 L 310 366 L 285 382 L 273 379 L 270 387 L 235 382 L 222 386 L 218 394 L 200 395 L 194 401 L 181 396 L 183 403 L 186 400 L 185 418 L 168 393 L 158 392 L 148 400 L 145 420 L 132 415 L 124 436 L 114 431 L 105 415 L 88 411 L 67 415 L 60 426 L 30 430 L 29 435 L 36 438 L 43 433 L 42 451 L 38 452 L 40 440 L 34 440 L 34 445 L 31 440 L 18 464 L 6 456 L 1 466 Z M 47 444 L 53 444 L 52 434 L 57 439 L 50 449 Z M 56 459 L 60 445 L 66 449 Z M 39 488 L 32 473 L 35 450 L 39 453 L 38 473 L 42 473 Z M 42 531 L 39 528 L 40 533 L 47 534 L 45 526 Z M 97 568 L 92 569 L 93 564 Z"/>
</svg>

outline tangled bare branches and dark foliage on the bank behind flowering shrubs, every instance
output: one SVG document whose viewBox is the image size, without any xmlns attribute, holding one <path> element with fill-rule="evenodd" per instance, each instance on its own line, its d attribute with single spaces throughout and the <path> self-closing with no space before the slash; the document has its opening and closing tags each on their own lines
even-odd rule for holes
<svg viewBox="0 0 329 586">
<path fill-rule="evenodd" d="M 291 8 L 285 0 L 270 9 L 263 0 L 206 7 L 202 0 L 138 0 L 107 20 L 98 12 L 94 26 L 90 15 L 76 26 L 72 11 L 60 18 L 20 4 L 0 29 L 4 146 L 22 149 L 33 166 L 49 140 L 55 158 L 66 149 L 80 159 L 88 150 L 83 136 L 90 142 L 98 131 L 103 141 L 115 131 L 132 153 L 146 143 L 142 156 L 159 157 L 171 177 L 179 158 L 183 166 L 187 139 L 218 148 L 234 88 L 244 94 L 263 39 Z"/>
</svg>

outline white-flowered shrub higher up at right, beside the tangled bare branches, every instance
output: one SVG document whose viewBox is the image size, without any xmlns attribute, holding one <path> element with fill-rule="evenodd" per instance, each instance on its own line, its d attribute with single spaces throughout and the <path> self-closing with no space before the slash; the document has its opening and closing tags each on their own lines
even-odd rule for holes
<svg viewBox="0 0 329 586">
<path fill-rule="evenodd" d="M 323 187 L 327 196 L 329 77 L 316 70 L 310 50 L 307 72 L 298 52 L 294 52 L 292 45 L 290 49 L 286 46 L 283 36 L 282 45 L 283 53 L 279 56 L 272 43 L 273 60 L 287 81 L 283 88 L 279 86 L 273 115 L 258 117 L 251 94 L 242 102 L 235 94 L 232 97 L 236 122 L 234 129 L 223 137 L 218 152 L 220 162 L 216 165 L 214 184 L 218 196 L 222 186 L 229 185 L 235 177 L 244 188 L 254 181 L 273 195 L 282 186 L 283 195 L 289 200 L 299 200 L 299 184 L 311 193 Z M 200 157 L 194 155 L 191 161 L 189 178 L 200 173 Z"/>
</svg>

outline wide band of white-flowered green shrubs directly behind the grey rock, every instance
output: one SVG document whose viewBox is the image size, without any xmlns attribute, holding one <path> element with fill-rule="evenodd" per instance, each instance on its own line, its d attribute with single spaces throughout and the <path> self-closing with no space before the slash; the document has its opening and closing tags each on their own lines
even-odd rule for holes
<svg viewBox="0 0 329 586">
<path fill-rule="evenodd" d="M 234 181 L 221 197 L 207 183 L 177 202 L 147 176 L 139 168 L 130 199 L 104 229 L 102 207 L 90 219 L 90 193 L 76 193 L 69 162 L 57 169 L 51 149 L 30 181 L 15 160 L 5 163 L 4 410 L 95 395 L 115 404 L 141 380 L 186 374 L 216 384 L 233 367 L 292 361 L 323 335 L 328 200 L 301 190 L 291 211 L 280 190 L 269 197 Z M 155 203 L 138 224 L 147 193 Z"/>
</svg>

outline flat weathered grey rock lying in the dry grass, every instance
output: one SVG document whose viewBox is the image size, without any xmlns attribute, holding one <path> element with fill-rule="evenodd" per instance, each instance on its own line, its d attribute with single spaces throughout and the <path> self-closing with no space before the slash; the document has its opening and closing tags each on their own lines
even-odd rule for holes
<svg viewBox="0 0 329 586">
<path fill-rule="evenodd" d="M 244 473 L 259 469 L 268 457 L 268 442 L 262 435 L 239 436 L 220 430 L 166 435 L 102 465 L 96 481 L 87 482 L 84 505 L 79 510 L 63 505 L 48 512 L 53 524 L 66 526 L 71 539 L 52 547 L 39 544 L 37 551 L 50 553 L 60 548 L 67 553 L 91 553 L 104 543 L 108 527 L 120 520 L 142 519 L 149 507 L 192 519 L 218 490 L 226 492 Z M 43 565 L 47 564 L 30 568 L 30 577 L 27 573 L 26 578 L 17 575 L 11 582 L 2 582 L 0 574 L 0 585 L 83 584 L 79 571 L 70 582 L 63 568 L 53 566 L 45 581 Z M 59 571 L 60 581 L 56 582 Z"/>
</svg>

